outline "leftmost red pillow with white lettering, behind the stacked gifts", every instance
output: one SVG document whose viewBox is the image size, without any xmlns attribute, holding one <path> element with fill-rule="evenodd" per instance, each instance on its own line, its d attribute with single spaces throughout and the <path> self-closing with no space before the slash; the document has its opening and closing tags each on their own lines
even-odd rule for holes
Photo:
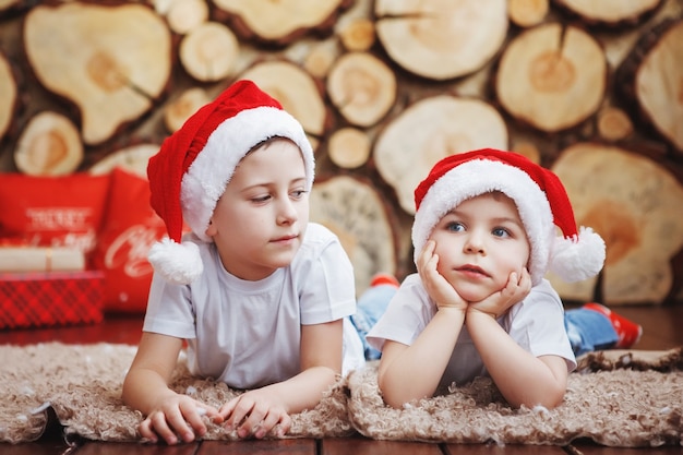
<svg viewBox="0 0 683 455">
<path fill-rule="evenodd" d="M 109 176 L 0 173 L 0 238 L 34 247 L 69 247 L 89 259 L 101 226 Z"/>
</svg>

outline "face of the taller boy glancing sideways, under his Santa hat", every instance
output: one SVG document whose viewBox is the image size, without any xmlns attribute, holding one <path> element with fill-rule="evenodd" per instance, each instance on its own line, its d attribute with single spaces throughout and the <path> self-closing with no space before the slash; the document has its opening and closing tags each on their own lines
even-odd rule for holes
<svg viewBox="0 0 683 455">
<path fill-rule="evenodd" d="M 309 221 L 305 183 L 292 142 L 275 140 L 247 154 L 206 229 L 228 272 L 256 280 L 291 263 Z"/>
</svg>

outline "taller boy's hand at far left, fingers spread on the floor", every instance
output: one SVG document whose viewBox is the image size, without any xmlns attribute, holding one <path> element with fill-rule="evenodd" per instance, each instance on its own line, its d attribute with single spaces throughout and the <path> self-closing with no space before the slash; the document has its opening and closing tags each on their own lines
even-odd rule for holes
<svg viewBox="0 0 683 455">
<path fill-rule="evenodd" d="M 140 423 L 140 434 L 152 442 L 161 438 L 169 445 L 178 443 L 179 438 L 182 442 L 192 442 L 195 436 L 206 434 L 204 415 L 216 419 L 218 410 L 187 395 L 173 393 Z"/>
</svg>

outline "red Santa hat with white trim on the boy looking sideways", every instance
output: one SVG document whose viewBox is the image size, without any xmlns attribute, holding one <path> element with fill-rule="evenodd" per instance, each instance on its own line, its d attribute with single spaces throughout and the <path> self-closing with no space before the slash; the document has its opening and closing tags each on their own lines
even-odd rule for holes
<svg viewBox="0 0 683 455">
<path fill-rule="evenodd" d="M 297 144 L 310 190 L 315 160 L 303 128 L 251 81 L 229 86 L 164 141 L 147 166 L 152 207 L 168 231 L 149 250 L 155 272 L 177 284 L 189 284 L 202 273 L 199 248 L 181 242 L 183 219 L 199 239 L 211 241 L 206 228 L 237 165 L 274 136 Z"/>
</svg>

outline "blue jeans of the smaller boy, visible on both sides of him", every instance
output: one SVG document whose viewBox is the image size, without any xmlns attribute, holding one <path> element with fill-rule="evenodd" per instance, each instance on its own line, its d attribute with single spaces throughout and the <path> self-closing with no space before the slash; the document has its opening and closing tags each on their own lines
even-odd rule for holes
<svg viewBox="0 0 683 455">
<path fill-rule="evenodd" d="M 376 360 L 382 356 L 382 352 L 368 344 L 366 335 L 382 316 L 394 294 L 396 294 L 396 288 L 390 285 L 368 288 L 358 299 L 356 314 L 350 318 L 363 343 L 367 360 Z M 564 327 L 575 356 L 598 349 L 609 349 L 619 340 L 610 320 L 592 310 L 583 308 L 566 310 Z"/>
</svg>

